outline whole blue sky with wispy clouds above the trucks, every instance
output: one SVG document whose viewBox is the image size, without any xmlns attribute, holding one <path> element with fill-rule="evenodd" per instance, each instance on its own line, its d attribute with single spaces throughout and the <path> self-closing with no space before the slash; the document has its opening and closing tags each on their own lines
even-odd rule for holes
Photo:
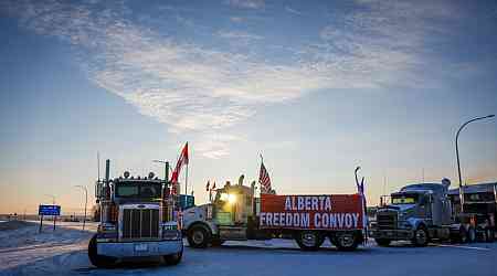
<svg viewBox="0 0 497 276">
<path fill-rule="evenodd" d="M 457 128 L 497 113 L 495 1 L 6 0 L 0 29 L 0 213 L 82 212 L 97 152 L 162 176 L 187 141 L 197 203 L 263 155 L 281 194 L 355 193 L 361 166 L 374 205 L 456 187 Z M 496 119 L 459 153 L 497 181 Z"/>
</svg>

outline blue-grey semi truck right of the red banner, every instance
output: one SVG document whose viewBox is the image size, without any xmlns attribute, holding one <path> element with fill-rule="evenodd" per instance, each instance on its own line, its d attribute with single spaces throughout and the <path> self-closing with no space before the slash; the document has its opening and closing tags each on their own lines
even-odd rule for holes
<svg viewBox="0 0 497 276">
<path fill-rule="evenodd" d="M 380 246 L 392 241 L 411 241 L 425 246 L 436 240 L 474 240 L 474 226 L 456 221 L 447 191 L 451 182 L 416 183 L 390 195 L 390 204 L 380 206 L 371 223 L 370 235 Z"/>
</svg>

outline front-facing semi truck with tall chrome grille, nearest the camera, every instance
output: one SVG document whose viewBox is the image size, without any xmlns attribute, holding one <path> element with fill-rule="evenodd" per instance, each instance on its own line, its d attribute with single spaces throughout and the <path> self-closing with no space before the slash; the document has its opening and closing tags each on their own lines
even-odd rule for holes
<svg viewBox="0 0 497 276">
<path fill-rule="evenodd" d="M 118 259 L 161 256 L 167 264 L 181 261 L 183 244 L 178 225 L 178 197 L 175 183 L 148 177 L 108 178 L 96 183 L 101 210 L 97 233 L 88 244 L 88 257 L 97 267 L 112 267 Z"/>
</svg>

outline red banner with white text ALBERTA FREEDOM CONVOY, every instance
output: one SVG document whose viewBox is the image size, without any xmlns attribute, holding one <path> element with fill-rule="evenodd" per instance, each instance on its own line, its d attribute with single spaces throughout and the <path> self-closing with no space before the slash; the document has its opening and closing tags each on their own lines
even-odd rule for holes
<svg viewBox="0 0 497 276">
<path fill-rule="evenodd" d="M 359 194 L 261 194 L 261 229 L 363 229 Z"/>
</svg>

